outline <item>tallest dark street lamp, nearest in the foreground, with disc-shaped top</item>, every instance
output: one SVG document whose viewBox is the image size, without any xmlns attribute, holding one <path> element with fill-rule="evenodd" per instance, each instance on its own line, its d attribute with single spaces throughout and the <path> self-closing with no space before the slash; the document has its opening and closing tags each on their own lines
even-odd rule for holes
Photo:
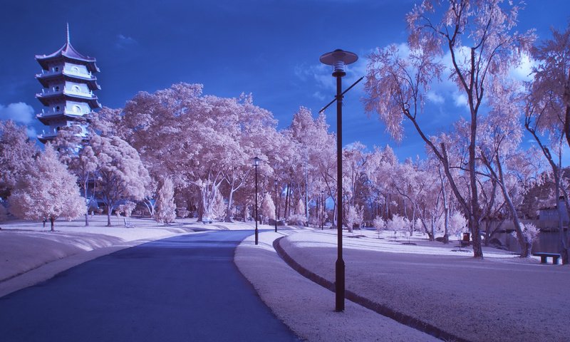
<svg viewBox="0 0 570 342">
<path fill-rule="evenodd" d="M 321 56 L 320 61 L 333 66 L 333 77 L 336 77 L 336 207 L 337 207 L 337 240 L 336 259 L 336 311 L 344 311 L 344 260 L 343 260 L 343 92 L 342 78 L 346 75 L 344 66 L 358 60 L 356 53 L 337 49 Z M 361 78 L 362 79 L 362 78 Z M 356 84 L 356 83 L 355 83 Z M 351 87 L 352 88 L 352 87 Z M 350 88 L 348 88 L 350 89 Z M 348 89 L 346 91 L 348 91 Z M 346 93 L 346 92 L 345 92 Z"/>
</svg>

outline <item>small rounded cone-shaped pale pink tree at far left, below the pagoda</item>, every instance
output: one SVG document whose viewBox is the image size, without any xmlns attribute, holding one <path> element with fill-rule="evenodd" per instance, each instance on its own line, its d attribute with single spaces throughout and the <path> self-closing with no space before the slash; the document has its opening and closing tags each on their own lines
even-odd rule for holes
<svg viewBox="0 0 570 342">
<path fill-rule="evenodd" d="M 58 217 L 75 219 L 86 212 L 77 178 L 48 144 L 33 164 L 27 165 L 9 197 L 10 212 L 29 220 L 48 220 L 51 231 Z"/>
</svg>

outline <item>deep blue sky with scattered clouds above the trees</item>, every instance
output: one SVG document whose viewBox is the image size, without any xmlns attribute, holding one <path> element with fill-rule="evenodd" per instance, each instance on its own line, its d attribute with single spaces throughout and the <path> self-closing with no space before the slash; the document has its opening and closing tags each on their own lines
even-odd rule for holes
<svg viewBox="0 0 570 342">
<path fill-rule="evenodd" d="M 71 43 L 97 58 L 100 103 L 122 107 L 138 91 L 154 92 L 172 83 L 202 83 L 204 93 L 236 97 L 252 93 L 254 102 L 274 113 L 279 128 L 291 123 L 300 105 L 318 110 L 332 100 L 331 70 L 318 62 L 336 48 L 361 59 L 343 86 L 366 73 L 366 56 L 375 47 L 403 43 L 404 16 L 419 1 L 402 0 L 224 0 L 224 1 L 2 1 L 0 12 L 0 118 L 15 118 L 41 133 L 33 115 L 41 85 L 36 54 Z M 563 29 L 570 1 L 529 0 L 519 16 L 519 31 Z M 363 83 L 363 82 L 362 82 Z M 442 88 L 443 89 L 443 88 Z M 378 119 L 363 110 L 362 84 L 345 96 L 343 142 L 368 147 L 389 143 L 403 160 L 423 155 L 412 130 L 399 145 Z M 430 104 L 430 129 L 447 129 L 465 108 L 452 91 L 437 93 Z M 16 103 L 23 103 L 18 104 Z M 331 131 L 336 110 L 327 110 Z"/>
</svg>

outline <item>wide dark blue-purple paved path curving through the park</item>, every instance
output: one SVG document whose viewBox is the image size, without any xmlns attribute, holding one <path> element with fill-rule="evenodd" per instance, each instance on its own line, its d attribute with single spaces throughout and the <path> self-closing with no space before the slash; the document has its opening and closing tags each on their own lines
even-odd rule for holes
<svg viewBox="0 0 570 342">
<path fill-rule="evenodd" d="M 124 249 L 0 298 L 0 341 L 297 341 L 233 262 L 251 231 Z"/>
</svg>

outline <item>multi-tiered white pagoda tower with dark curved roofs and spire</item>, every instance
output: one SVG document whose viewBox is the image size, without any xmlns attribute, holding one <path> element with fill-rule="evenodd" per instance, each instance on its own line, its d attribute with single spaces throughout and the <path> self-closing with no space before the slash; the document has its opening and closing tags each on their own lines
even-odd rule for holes
<svg viewBox="0 0 570 342">
<path fill-rule="evenodd" d="M 67 41 L 58 51 L 51 55 L 36 55 L 41 73 L 36 78 L 43 86 L 36 98 L 45 106 L 36 118 L 48 128 L 43 130 L 38 139 L 47 142 L 56 137 L 59 128 L 70 126 L 76 121 L 100 108 L 97 95 L 93 90 L 100 90 L 95 73 L 99 68 L 95 58 L 78 53 L 69 41 L 69 25 Z M 81 125 L 82 135 L 86 127 Z"/>
</svg>

